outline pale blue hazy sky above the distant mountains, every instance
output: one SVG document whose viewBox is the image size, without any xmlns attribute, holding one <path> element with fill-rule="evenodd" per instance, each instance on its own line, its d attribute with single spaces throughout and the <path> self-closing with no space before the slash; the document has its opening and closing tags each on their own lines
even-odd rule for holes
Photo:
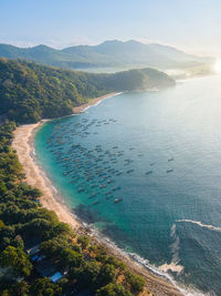
<svg viewBox="0 0 221 296">
<path fill-rule="evenodd" d="M 0 43 L 135 39 L 221 57 L 221 0 L 0 0 Z"/>
</svg>

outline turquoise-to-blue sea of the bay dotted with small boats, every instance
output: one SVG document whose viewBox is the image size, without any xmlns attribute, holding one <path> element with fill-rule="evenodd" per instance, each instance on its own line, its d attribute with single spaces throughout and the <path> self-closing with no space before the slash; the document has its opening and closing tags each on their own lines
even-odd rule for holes
<svg viewBox="0 0 221 296">
<path fill-rule="evenodd" d="M 221 76 L 48 122 L 35 152 L 78 217 L 180 285 L 221 295 Z"/>
</svg>

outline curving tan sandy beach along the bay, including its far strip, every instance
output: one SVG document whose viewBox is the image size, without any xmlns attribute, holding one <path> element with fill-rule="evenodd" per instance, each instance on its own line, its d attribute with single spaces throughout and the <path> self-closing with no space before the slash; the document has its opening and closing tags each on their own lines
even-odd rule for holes
<svg viewBox="0 0 221 296">
<path fill-rule="evenodd" d="M 99 101 L 117 95 L 118 93 L 107 94 L 101 98 L 92 100 L 92 104 L 87 103 L 78 108 L 78 113 L 83 112 L 86 108 L 97 104 Z M 76 111 L 75 111 L 76 112 Z M 43 195 L 40 197 L 40 202 L 43 207 L 56 213 L 61 222 L 67 223 L 76 233 L 85 233 L 91 236 L 96 243 L 102 244 L 109 254 L 124 261 L 128 268 L 143 275 L 146 279 L 147 289 L 151 290 L 155 295 L 185 295 L 176 287 L 169 278 L 157 275 L 150 268 L 143 266 L 138 261 L 135 261 L 128 254 L 117 248 L 108 238 L 103 238 L 99 235 L 93 233 L 90 227 L 86 227 L 71 210 L 65 205 L 63 197 L 54 187 L 52 181 L 46 176 L 46 173 L 42 170 L 34 155 L 34 136 L 36 131 L 46 122 L 42 120 L 35 124 L 21 125 L 17 127 L 13 135 L 12 147 L 17 151 L 20 163 L 23 166 L 27 180 L 25 182 L 34 187 L 41 190 Z M 146 295 L 146 294 L 145 294 Z"/>
</svg>

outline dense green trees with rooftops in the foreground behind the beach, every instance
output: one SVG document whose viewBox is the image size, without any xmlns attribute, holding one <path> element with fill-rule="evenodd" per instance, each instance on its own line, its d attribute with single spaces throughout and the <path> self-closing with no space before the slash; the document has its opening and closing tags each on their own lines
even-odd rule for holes
<svg viewBox="0 0 221 296">
<path fill-rule="evenodd" d="M 94 295 L 140 292 L 144 279 L 125 263 L 41 206 L 41 192 L 25 183 L 11 149 L 14 129 L 13 122 L 0 126 L 0 295 L 70 295 L 76 287 Z M 53 283 L 56 272 L 62 279 Z"/>
</svg>

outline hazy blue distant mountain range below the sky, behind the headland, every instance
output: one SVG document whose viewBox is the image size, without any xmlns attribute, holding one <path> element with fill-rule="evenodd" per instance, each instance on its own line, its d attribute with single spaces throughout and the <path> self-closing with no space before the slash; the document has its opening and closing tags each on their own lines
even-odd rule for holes
<svg viewBox="0 0 221 296">
<path fill-rule="evenodd" d="M 46 45 L 18 48 L 0 44 L 0 57 L 27 59 L 65 69 L 113 68 L 183 69 L 213 62 L 211 58 L 187 54 L 162 44 L 130 41 L 105 41 L 98 45 L 77 45 L 56 50 Z"/>
</svg>

